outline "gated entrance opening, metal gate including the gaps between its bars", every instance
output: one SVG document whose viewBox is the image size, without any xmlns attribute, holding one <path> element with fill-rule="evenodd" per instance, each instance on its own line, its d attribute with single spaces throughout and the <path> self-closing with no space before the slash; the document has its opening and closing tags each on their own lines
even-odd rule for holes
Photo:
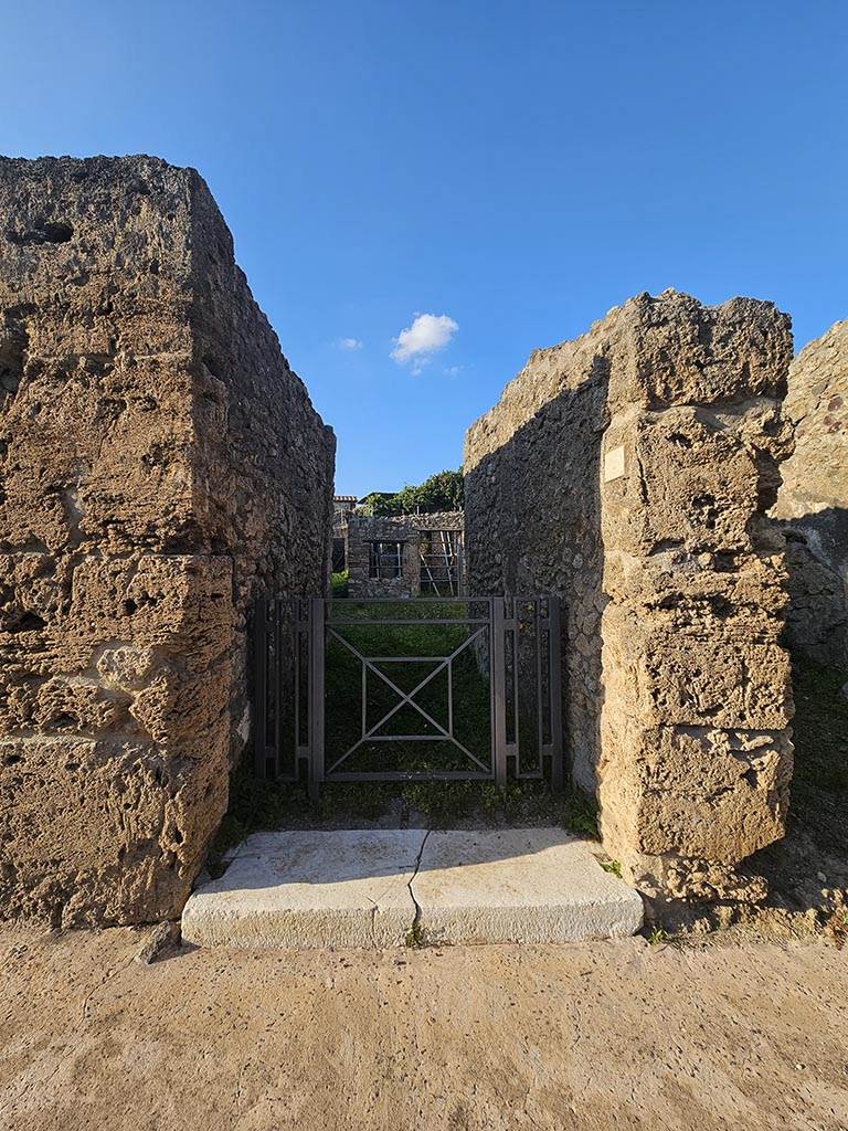
<svg viewBox="0 0 848 1131">
<path fill-rule="evenodd" d="M 556 597 L 260 599 L 257 774 L 561 788 L 560 653 Z"/>
</svg>

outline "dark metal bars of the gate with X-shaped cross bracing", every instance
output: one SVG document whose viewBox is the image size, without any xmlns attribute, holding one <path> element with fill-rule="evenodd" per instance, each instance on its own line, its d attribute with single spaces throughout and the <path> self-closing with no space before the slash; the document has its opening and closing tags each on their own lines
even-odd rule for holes
<svg viewBox="0 0 848 1131">
<path fill-rule="evenodd" d="M 349 606 L 397 604 L 397 597 L 352 598 Z M 521 610 L 533 605 L 533 632 L 525 637 Z M 561 672 L 561 603 L 559 597 L 419 597 L 410 602 L 410 611 L 425 605 L 461 605 L 467 612 L 474 606 L 486 606 L 487 616 L 389 616 L 386 619 L 341 616 L 335 619 L 331 610 L 335 602 L 323 597 L 283 596 L 272 599 L 258 598 L 254 602 L 252 624 L 253 668 L 253 734 L 254 768 L 257 776 L 266 779 L 296 782 L 304 774 L 310 794 L 315 796 L 322 782 L 362 780 L 494 780 L 499 786 L 507 782 L 509 766 L 518 778 L 540 778 L 550 774 L 554 789 L 561 789 L 564 779 L 562 741 L 562 672 Z M 283 623 L 284 614 L 289 614 L 289 632 Z M 433 624 L 471 627 L 474 631 L 449 656 L 366 656 L 336 628 L 369 628 L 375 625 L 403 625 L 410 628 Z M 358 659 L 362 667 L 362 735 L 329 770 L 325 763 L 325 664 L 326 646 L 335 637 Z M 486 766 L 471 753 L 453 733 L 453 661 L 469 645 L 486 639 L 488 644 L 491 765 Z M 291 650 L 284 656 L 284 646 L 291 639 Z M 508 657 L 507 641 L 510 641 Z M 521 769 L 520 724 L 520 656 L 523 641 L 531 644 L 535 651 L 536 681 L 536 744 L 538 766 L 534 770 Z M 285 662 L 291 667 L 285 668 Z M 404 692 L 386 672 L 377 667 L 380 663 L 432 663 L 434 668 L 409 692 Z M 399 701 L 371 728 L 367 727 L 367 672 L 374 672 Z M 433 718 L 415 697 L 441 672 L 448 679 L 448 727 Z M 508 684 L 508 671 L 512 680 Z M 286 676 L 284 679 L 284 672 Z M 289 677 L 291 676 L 291 677 Z M 291 699 L 284 703 L 284 685 Z M 305 698 L 304 698 L 305 692 Z M 510 727 L 508 705 L 511 707 L 513 725 Z M 405 706 L 413 707 L 439 733 L 433 735 L 379 735 L 374 732 L 392 718 Z M 292 709 L 293 754 L 292 768 L 283 766 L 283 740 L 286 727 L 284 707 Z M 269 734 L 269 731 L 271 732 Z M 451 742 L 479 770 L 426 771 L 339 771 L 337 767 L 364 742 Z M 286 767 L 288 756 L 286 754 Z"/>
</svg>

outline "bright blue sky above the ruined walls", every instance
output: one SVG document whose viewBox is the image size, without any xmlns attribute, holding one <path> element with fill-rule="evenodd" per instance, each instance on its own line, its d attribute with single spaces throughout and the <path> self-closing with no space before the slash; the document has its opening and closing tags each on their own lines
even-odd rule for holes
<svg viewBox="0 0 848 1131">
<path fill-rule="evenodd" d="M 772 299 L 798 346 L 848 317 L 837 0 L 1 15 L 0 152 L 199 169 L 345 493 L 458 466 L 533 348 L 638 292 Z"/>
</svg>

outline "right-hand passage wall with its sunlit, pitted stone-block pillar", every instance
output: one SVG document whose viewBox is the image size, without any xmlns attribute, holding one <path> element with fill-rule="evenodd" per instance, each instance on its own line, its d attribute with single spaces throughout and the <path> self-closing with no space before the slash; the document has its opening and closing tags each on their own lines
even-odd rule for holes
<svg viewBox="0 0 848 1131">
<path fill-rule="evenodd" d="M 655 896 L 756 896 L 791 772 L 784 539 L 789 320 L 640 295 L 537 351 L 466 441 L 473 590 L 565 598 L 569 746 L 605 845 Z"/>
</svg>

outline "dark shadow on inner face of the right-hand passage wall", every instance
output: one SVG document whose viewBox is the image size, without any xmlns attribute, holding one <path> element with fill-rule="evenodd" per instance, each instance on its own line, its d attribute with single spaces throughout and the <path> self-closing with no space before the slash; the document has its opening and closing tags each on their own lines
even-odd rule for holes
<svg viewBox="0 0 848 1131">
<path fill-rule="evenodd" d="M 469 592 L 563 598 L 565 765 L 596 789 L 600 751 L 600 450 L 608 424 L 608 362 L 546 402 L 466 474 Z"/>
</svg>

